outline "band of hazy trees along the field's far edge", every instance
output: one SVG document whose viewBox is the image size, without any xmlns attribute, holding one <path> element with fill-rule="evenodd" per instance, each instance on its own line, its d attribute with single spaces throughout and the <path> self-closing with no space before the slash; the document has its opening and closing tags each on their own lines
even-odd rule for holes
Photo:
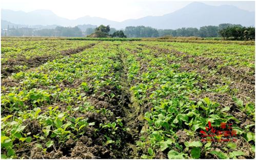
<svg viewBox="0 0 256 160">
<path fill-rule="evenodd" d="M 93 26 L 94 27 L 94 26 Z M 82 28 L 82 27 L 81 27 Z M 110 26 L 101 25 L 95 28 L 56 27 L 55 29 L 36 30 L 31 28 L 8 28 L 2 30 L 2 36 L 65 36 L 65 37 L 223 37 L 234 40 L 251 40 L 255 38 L 254 27 L 220 24 L 219 26 L 203 26 L 198 28 L 154 29 L 145 26 L 128 26 L 117 31 Z"/>
</svg>

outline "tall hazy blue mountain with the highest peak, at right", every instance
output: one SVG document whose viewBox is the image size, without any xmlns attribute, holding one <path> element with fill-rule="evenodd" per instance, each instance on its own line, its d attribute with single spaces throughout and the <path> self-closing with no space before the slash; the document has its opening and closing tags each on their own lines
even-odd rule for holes
<svg viewBox="0 0 256 160">
<path fill-rule="evenodd" d="M 254 26 L 254 12 L 234 6 L 209 6 L 194 2 L 173 13 L 163 16 L 147 16 L 140 19 L 129 19 L 122 26 L 151 26 L 157 29 L 177 29 L 182 27 L 202 27 L 223 23 Z"/>
</svg>

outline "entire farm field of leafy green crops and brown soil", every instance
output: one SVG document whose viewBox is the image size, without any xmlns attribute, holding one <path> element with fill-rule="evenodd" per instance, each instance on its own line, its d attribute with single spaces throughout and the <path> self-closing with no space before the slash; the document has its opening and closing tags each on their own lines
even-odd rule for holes
<svg viewBox="0 0 256 160">
<path fill-rule="evenodd" d="M 254 158 L 254 45 L 209 41 L 3 37 L 2 158 Z"/>
</svg>

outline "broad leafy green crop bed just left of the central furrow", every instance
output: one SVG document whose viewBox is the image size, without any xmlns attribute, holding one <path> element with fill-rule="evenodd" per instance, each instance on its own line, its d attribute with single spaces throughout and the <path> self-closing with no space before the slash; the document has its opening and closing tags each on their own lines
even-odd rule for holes
<svg viewBox="0 0 256 160">
<path fill-rule="evenodd" d="M 107 49 L 104 45 L 9 77 L 17 83 L 2 86 L 2 158 L 27 158 L 19 153 L 24 148 L 30 153 L 33 147 L 44 157 L 82 136 L 93 144 L 102 136 L 97 145 L 106 148 L 122 143 L 120 134 L 126 130 L 122 119 L 115 110 L 90 101 L 99 96 L 111 102 L 119 96 L 115 90 L 102 90 L 120 88 L 116 45 Z"/>
</svg>

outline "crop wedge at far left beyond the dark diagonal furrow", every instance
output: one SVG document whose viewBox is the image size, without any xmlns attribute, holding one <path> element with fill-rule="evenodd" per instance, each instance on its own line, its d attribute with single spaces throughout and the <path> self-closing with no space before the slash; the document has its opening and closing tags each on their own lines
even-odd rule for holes
<svg viewBox="0 0 256 160">
<path fill-rule="evenodd" d="M 2 41 L 2 77 L 39 66 L 48 60 L 78 53 L 95 42 L 87 41 Z"/>
</svg>

